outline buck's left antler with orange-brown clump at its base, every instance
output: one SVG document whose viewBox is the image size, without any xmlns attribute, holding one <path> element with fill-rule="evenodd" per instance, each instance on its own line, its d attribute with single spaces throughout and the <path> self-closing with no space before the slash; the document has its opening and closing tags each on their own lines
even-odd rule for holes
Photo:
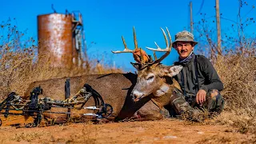
<svg viewBox="0 0 256 144">
<path fill-rule="evenodd" d="M 114 54 L 118 54 L 118 53 L 133 53 L 134 54 L 134 59 L 135 61 L 144 64 L 145 62 L 149 61 L 149 56 L 145 53 L 145 51 L 143 51 L 141 48 L 138 48 L 138 42 L 137 42 L 137 38 L 136 38 L 136 33 L 135 33 L 135 28 L 133 27 L 133 31 L 134 31 L 134 50 L 130 50 L 128 49 L 127 45 L 126 45 L 126 41 L 125 38 L 123 38 L 122 36 L 122 42 L 123 45 L 125 46 L 125 49 L 122 51 L 112 51 L 112 53 Z M 140 53 L 140 54 L 136 54 L 136 53 Z"/>
</svg>

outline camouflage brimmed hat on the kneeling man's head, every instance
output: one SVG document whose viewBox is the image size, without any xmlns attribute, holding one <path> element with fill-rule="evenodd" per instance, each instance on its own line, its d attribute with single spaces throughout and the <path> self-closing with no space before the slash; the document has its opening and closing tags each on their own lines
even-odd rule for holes
<svg viewBox="0 0 256 144">
<path fill-rule="evenodd" d="M 198 42 L 194 42 L 194 35 L 190 32 L 183 30 L 182 32 L 178 32 L 175 35 L 175 42 L 173 42 L 172 46 L 174 47 L 176 42 L 192 42 L 192 46 L 198 44 Z"/>
</svg>

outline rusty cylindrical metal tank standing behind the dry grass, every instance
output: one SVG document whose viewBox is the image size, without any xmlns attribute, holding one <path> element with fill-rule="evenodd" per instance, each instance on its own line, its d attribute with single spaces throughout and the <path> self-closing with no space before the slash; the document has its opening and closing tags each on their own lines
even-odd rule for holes
<svg viewBox="0 0 256 144">
<path fill-rule="evenodd" d="M 55 67 L 72 66 L 72 15 L 38 15 L 38 54 L 50 56 Z"/>
</svg>

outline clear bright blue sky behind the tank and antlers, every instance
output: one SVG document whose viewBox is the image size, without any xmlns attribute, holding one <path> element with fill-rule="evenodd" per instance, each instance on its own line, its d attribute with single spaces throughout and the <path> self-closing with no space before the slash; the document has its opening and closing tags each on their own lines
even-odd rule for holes
<svg viewBox="0 0 256 144">
<path fill-rule="evenodd" d="M 236 21 L 238 13 L 238 0 L 220 0 L 220 13 L 222 17 Z M 181 30 L 189 30 L 189 2 L 190 0 L 2 0 L 0 19 L 16 18 L 19 30 L 27 30 L 27 37 L 37 38 L 37 16 L 40 14 L 53 13 L 51 4 L 54 4 L 58 13 L 65 10 L 79 10 L 82 13 L 84 30 L 86 33 L 87 46 L 90 42 L 96 44 L 88 48 L 87 54 L 91 58 L 102 58 L 106 62 L 116 63 L 125 70 L 134 70 L 130 62 L 134 62 L 132 54 L 112 54 L 110 50 L 123 50 L 122 38 L 126 38 L 127 46 L 134 49 L 132 28 L 135 26 L 138 46 L 146 49 L 146 46 L 154 47 L 154 42 L 165 47 L 160 27 L 168 27 L 174 40 L 174 34 Z M 215 15 L 215 0 L 192 0 L 194 22 L 198 22 L 199 13 L 206 13 L 211 17 Z M 246 14 L 255 0 L 246 1 L 249 6 L 245 7 L 242 14 Z M 202 9 L 201 9 L 202 6 Z M 246 16 L 255 16 L 255 10 Z M 226 30 L 232 22 L 221 20 L 222 30 Z M 213 23 L 215 26 L 215 23 Z M 254 26 L 248 28 L 253 31 Z M 148 54 L 151 51 L 146 50 Z M 161 55 L 158 53 L 158 55 Z M 173 49 L 170 55 L 163 61 L 171 65 L 177 60 L 178 55 Z"/>
</svg>

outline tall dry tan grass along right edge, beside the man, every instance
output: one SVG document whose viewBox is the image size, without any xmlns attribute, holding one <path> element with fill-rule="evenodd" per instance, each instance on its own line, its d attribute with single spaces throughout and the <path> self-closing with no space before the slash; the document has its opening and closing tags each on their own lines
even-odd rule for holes
<svg viewBox="0 0 256 144">
<path fill-rule="evenodd" d="M 226 98 L 225 110 L 218 122 L 239 128 L 242 133 L 256 133 L 256 48 L 243 53 L 230 53 L 219 57 L 215 63 Z"/>
</svg>

